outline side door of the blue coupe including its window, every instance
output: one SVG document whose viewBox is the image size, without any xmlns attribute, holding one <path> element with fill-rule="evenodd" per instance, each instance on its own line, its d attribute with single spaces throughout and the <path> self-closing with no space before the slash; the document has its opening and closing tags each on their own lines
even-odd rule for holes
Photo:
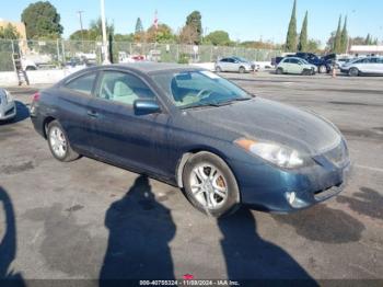
<svg viewBox="0 0 383 287">
<path fill-rule="evenodd" d="M 156 95 L 146 81 L 134 73 L 118 70 L 102 71 L 95 97 L 88 115 L 92 118 L 94 153 L 115 164 L 138 171 L 164 175 L 161 164 L 166 161 L 167 124 L 165 108 L 149 115 L 136 115 L 134 103 Z"/>
</svg>

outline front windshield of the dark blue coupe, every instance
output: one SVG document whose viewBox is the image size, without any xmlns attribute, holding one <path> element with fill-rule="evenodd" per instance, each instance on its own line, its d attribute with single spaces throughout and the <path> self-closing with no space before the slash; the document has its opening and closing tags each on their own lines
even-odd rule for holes
<svg viewBox="0 0 383 287">
<path fill-rule="evenodd" d="M 220 106 L 252 96 L 210 71 L 162 72 L 152 79 L 179 108 Z"/>
</svg>

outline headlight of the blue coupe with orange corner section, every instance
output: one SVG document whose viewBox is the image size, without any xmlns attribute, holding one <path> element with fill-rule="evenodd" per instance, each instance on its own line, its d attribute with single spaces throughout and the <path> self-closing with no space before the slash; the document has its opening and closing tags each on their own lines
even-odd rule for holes
<svg viewBox="0 0 383 287">
<path fill-rule="evenodd" d="M 309 157 L 304 157 L 299 151 L 275 142 L 255 141 L 246 138 L 237 139 L 234 142 L 248 152 L 280 168 L 294 169 L 313 163 Z"/>
</svg>

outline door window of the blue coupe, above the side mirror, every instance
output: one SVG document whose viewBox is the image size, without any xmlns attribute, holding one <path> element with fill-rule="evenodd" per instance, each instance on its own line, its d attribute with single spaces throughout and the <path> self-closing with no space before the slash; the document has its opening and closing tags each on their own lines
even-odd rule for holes
<svg viewBox="0 0 383 287">
<path fill-rule="evenodd" d="M 104 71 L 101 77 L 98 97 L 132 105 L 138 99 L 153 99 L 150 88 L 136 76 Z"/>
</svg>

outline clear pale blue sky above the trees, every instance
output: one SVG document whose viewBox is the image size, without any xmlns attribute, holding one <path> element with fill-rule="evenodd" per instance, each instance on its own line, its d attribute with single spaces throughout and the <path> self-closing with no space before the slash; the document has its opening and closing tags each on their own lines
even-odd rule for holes
<svg viewBox="0 0 383 287">
<path fill-rule="evenodd" d="M 20 21 L 24 8 L 35 1 L 16 0 L 1 4 L 0 19 Z M 61 15 L 63 37 L 80 28 L 77 11 L 83 12 L 84 27 L 100 15 L 100 0 L 50 0 Z M 177 32 L 187 14 L 194 10 L 202 15 L 202 27 L 229 32 L 233 41 L 271 41 L 283 43 L 293 0 L 105 0 L 106 18 L 115 24 L 116 33 L 135 31 L 137 18 L 148 28 L 158 10 L 160 23 Z M 348 15 L 351 36 L 368 33 L 383 41 L 382 0 L 298 0 L 298 33 L 304 13 L 309 11 L 309 37 L 323 44 L 336 30 L 340 14 Z"/>
</svg>

